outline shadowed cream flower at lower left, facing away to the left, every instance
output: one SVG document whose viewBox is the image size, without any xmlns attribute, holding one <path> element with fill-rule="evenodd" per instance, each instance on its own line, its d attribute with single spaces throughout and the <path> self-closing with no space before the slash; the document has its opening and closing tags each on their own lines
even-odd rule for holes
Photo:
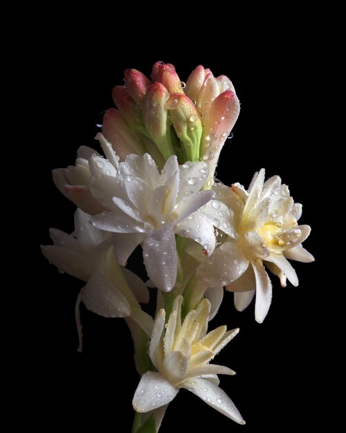
<svg viewBox="0 0 346 433">
<path fill-rule="evenodd" d="M 79 209 L 73 235 L 55 228 L 50 234 L 55 245 L 42 246 L 42 252 L 59 270 L 86 282 L 80 295 L 86 308 L 104 317 L 131 315 L 150 335 L 152 320 L 138 305 L 148 302 L 147 287 L 130 270 L 120 270 L 109 234 L 93 227 L 89 215 Z"/>
</svg>

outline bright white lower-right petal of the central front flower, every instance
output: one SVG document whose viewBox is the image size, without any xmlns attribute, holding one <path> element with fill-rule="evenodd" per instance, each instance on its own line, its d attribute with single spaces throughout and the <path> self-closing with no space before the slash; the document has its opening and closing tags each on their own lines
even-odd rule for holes
<svg viewBox="0 0 346 433">
<path fill-rule="evenodd" d="M 211 220 L 202 212 L 194 212 L 176 226 L 176 234 L 198 243 L 210 255 L 215 249 L 215 232 Z"/>
</svg>

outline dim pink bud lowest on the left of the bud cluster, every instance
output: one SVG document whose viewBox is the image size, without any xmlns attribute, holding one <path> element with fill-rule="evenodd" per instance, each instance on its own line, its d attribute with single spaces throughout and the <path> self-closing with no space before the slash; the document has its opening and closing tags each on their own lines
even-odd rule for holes
<svg viewBox="0 0 346 433">
<path fill-rule="evenodd" d="M 145 153 L 140 141 L 140 133 L 131 129 L 120 111 L 116 109 L 109 109 L 104 113 L 102 133 L 122 161 L 128 154 L 143 155 Z"/>
</svg>

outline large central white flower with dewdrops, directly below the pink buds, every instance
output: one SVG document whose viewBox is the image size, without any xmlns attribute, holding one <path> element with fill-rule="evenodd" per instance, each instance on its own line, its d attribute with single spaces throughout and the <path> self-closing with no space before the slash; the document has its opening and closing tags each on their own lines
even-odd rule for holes
<svg viewBox="0 0 346 433">
<path fill-rule="evenodd" d="M 179 167 L 174 155 L 159 174 L 152 157 L 145 154 L 127 156 L 113 173 L 99 166 L 98 157 L 92 156 L 89 185 L 108 211 L 93 215 L 91 222 L 114 233 L 114 253 L 122 265 L 141 243 L 149 278 L 162 291 L 170 291 L 179 260 L 175 234 L 200 243 L 208 254 L 215 248 L 212 221 L 199 212 L 214 196 L 212 191 L 200 191 L 208 164 L 187 162 Z"/>
</svg>

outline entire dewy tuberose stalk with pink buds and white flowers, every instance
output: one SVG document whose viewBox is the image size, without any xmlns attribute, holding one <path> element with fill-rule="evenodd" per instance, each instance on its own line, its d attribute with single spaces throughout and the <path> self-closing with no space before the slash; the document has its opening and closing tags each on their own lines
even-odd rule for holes
<svg viewBox="0 0 346 433">
<path fill-rule="evenodd" d="M 309 262 L 294 203 L 280 177 L 264 169 L 246 190 L 215 181 L 220 151 L 239 115 L 232 82 L 203 66 L 182 82 L 172 64 L 156 62 L 151 80 L 125 71 L 113 89 L 117 109 L 104 113 L 95 137 L 102 154 L 78 149 L 74 166 L 53 170 L 57 188 L 77 206 L 75 231 L 51 229 L 46 258 L 84 282 L 76 305 L 104 317 L 124 317 L 134 340 L 140 383 L 134 394 L 133 432 L 157 432 L 167 405 L 185 388 L 237 423 L 210 361 L 238 333 L 208 331 L 224 288 L 242 311 L 255 296 L 255 320 L 271 305 L 266 270 L 298 286 L 289 260 Z M 101 150 L 100 150 L 101 151 Z M 127 268 L 143 250 L 148 281 Z M 156 317 L 143 311 L 156 288 Z M 81 326 L 80 350 L 82 350 Z M 149 344 L 149 351 L 147 350 Z"/>
</svg>

